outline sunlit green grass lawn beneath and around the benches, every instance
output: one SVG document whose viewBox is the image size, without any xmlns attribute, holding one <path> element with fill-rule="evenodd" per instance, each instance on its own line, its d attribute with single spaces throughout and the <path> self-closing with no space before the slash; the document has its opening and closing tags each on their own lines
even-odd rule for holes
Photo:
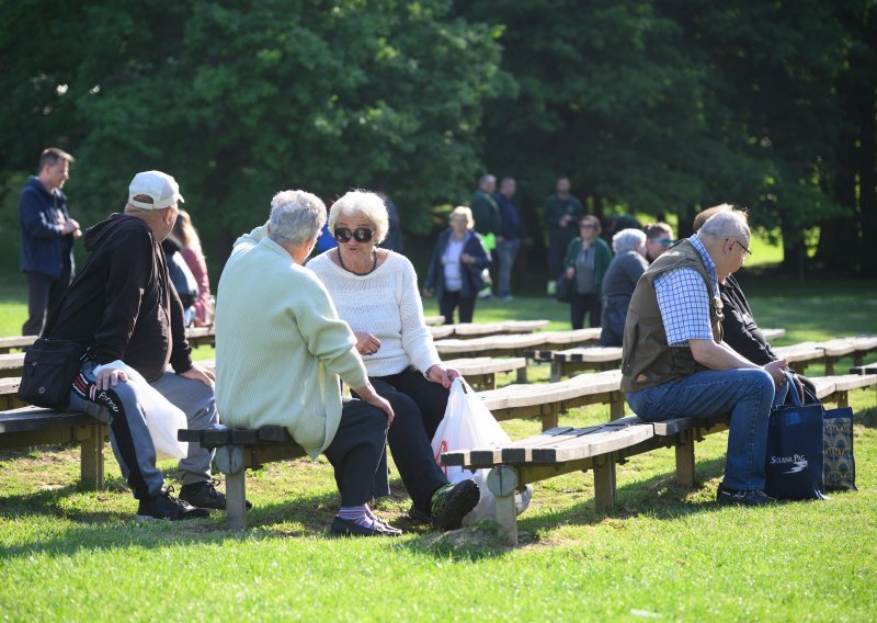
<svg viewBox="0 0 877 623">
<path fill-rule="evenodd" d="M 788 331 L 779 343 L 877 332 L 874 282 L 741 281 L 759 322 Z M 437 313 L 434 301 L 425 307 Z M 23 312 L 23 292 L 0 288 L 0 335 L 18 332 Z M 548 298 L 487 301 L 476 320 L 548 318 L 561 329 L 567 314 Z M 531 378 L 547 375 L 542 366 Z M 136 502 L 109 448 L 100 494 L 77 488 L 78 450 L 3 451 L 0 620 L 873 620 L 877 400 L 874 389 L 851 398 L 857 492 L 718 508 L 727 435 L 714 434 L 697 445 L 693 491 L 674 485 L 672 450 L 619 466 L 608 513 L 594 509 L 590 474 L 536 484 L 516 550 L 500 545 L 489 525 L 440 535 L 412 524 L 398 479 L 378 511 L 405 536 L 327 539 L 338 498 L 324 460 L 251 473 L 251 529 L 234 533 L 223 513 L 134 522 Z M 607 407 L 589 407 L 561 423 L 606 419 Z M 536 420 L 503 426 L 513 439 L 539 430 Z M 162 467 L 172 479 L 173 463 Z"/>
</svg>

